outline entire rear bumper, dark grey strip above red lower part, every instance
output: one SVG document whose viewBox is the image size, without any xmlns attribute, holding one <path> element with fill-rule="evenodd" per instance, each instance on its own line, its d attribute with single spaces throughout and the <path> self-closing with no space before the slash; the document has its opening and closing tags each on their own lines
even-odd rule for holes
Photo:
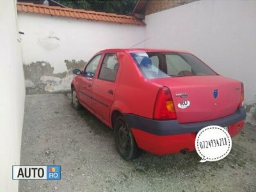
<svg viewBox="0 0 256 192">
<path fill-rule="evenodd" d="M 209 125 L 228 126 L 230 136 L 236 136 L 243 129 L 246 111 L 241 108 L 223 118 L 191 124 L 179 124 L 177 120 L 152 120 L 131 114 L 124 116 L 138 147 L 152 154 L 163 155 L 179 153 L 181 150 L 195 150 L 196 133 Z"/>
</svg>

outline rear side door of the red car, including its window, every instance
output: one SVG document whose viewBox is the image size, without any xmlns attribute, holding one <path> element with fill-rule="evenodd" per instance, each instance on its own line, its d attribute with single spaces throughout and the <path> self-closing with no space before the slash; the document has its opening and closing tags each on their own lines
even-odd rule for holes
<svg viewBox="0 0 256 192">
<path fill-rule="evenodd" d="M 118 68 L 116 53 L 106 53 L 92 88 L 93 109 L 107 124 L 110 122 L 109 111 L 114 101 Z"/>
</svg>

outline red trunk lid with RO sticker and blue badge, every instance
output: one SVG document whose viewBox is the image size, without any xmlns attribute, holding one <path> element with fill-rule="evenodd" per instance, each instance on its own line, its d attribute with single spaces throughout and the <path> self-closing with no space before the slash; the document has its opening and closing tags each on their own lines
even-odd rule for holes
<svg viewBox="0 0 256 192">
<path fill-rule="evenodd" d="M 223 76 L 186 76 L 150 79 L 170 88 L 177 120 L 202 122 L 235 113 L 241 82 Z"/>
</svg>

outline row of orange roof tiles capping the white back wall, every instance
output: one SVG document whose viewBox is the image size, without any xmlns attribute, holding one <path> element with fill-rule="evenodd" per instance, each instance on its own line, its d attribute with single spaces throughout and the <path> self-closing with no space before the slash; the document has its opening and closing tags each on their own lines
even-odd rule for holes
<svg viewBox="0 0 256 192">
<path fill-rule="evenodd" d="M 71 17 L 76 19 L 101 20 L 106 22 L 117 22 L 120 24 L 145 25 L 141 20 L 133 16 L 117 15 L 114 13 L 93 12 L 77 10 L 72 8 L 62 8 L 60 6 L 49 6 L 45 4 L 17 3 L 18 12 L 40 13 L 60 17 Z"/>
</svg>

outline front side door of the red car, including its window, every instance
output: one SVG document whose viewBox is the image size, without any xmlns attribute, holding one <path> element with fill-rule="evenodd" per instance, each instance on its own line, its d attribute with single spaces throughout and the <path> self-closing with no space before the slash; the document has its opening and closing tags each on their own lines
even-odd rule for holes
<svg viewBox="0 0 256 192">
<path fill-rule="evenodd" d="M 78 94 L 79 101 L 83 106 L 92 109 L 92 83 L 95 79 L 95 73 L 99 65 L 101 54 L 98 54 L 86 65 L 84 73 L 79 77 Z"/>
</svg>

